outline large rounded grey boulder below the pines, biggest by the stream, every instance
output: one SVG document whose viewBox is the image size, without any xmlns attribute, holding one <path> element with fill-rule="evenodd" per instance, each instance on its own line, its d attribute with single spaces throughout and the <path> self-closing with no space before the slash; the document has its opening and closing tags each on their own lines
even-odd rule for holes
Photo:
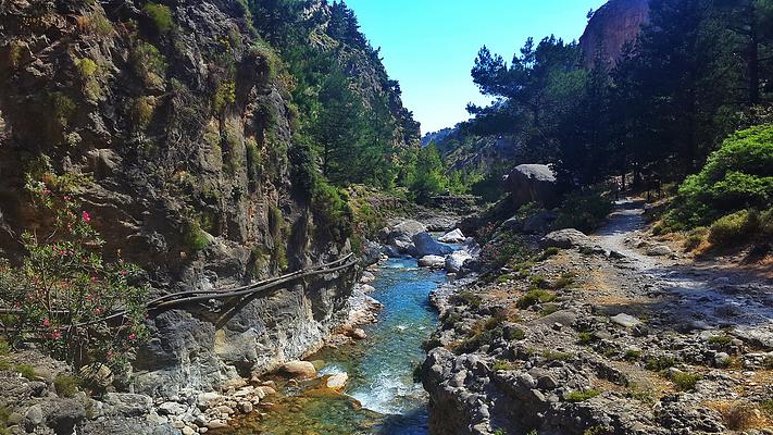
<svg viewBox="0 0 773 435">
<path fill-rule="evenodd" d="M 556 173 L 547 164 L 520 164 L 504 178 L 514 206 L 537 202 L 552 207 L 558 199 Z"/>
</svg>

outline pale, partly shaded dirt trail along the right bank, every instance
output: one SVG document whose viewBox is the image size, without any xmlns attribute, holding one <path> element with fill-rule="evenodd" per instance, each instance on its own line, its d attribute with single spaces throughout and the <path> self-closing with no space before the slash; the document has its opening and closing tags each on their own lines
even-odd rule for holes
<svg viewBox="0 0 773 435">
<path fill-rule="evenodd" d="M 638 274 L 647 284 L 632 286 L 656 300 L 650 313 L 658 323 L 684 328 L 733 328 L 734 334 L 773 347 L 773 283 L 753 273 L 726 265 L 701 265 L 678 254 L 648 256 L 658 246 L 644 228 L 644 201 L 616 203 L 608 224 L 593 236 L 607 251 L 622 256 L 621 275 Z M 638 291 L 637 291 L 638 290 Z M 638 293 L 638 294 L 637 294 Z"/>
</svg>

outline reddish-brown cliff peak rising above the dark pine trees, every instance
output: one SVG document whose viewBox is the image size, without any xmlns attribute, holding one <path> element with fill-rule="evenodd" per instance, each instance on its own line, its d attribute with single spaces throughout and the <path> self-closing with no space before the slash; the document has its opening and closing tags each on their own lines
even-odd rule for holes
<svg viewBox="0 0 773 435">
<path fill-rule="evenodd" d="M 591 69 L 598 60 L 614 65 L 648 15 L 649 0 L 611 0 L 599 8 L 579 38 L 585 67 Z"/>
</svg>

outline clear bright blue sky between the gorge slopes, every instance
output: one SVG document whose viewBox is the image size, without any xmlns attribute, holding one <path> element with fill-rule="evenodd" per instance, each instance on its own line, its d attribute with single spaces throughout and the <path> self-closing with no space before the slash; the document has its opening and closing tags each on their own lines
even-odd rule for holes
<svg viewBox="0 0 773 435">
<path fill-rule="evenodd" d="M 527 37 L 579 39 L 588 10 L 606 0 L 347 0 L 422 134 L 469 119 L 485 103 L 470 70 L 486 45 L 510 61 Z"/>
</svg>

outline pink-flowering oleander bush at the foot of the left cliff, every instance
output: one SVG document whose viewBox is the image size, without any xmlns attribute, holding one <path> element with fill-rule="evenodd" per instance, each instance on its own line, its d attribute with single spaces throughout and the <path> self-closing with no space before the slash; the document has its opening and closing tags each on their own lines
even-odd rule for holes
<svg viewBox="0 0 773 435">
<path fill-rule="evenodd" d="M 23 234 L 21 264 L 0 260 L 0 308 L 11 310 L 3 326 L 15 344 L 37 341 L 75 368 L 125 368 L 148 335 L 140 270 L 103 261 L 92 215 L 77 199 L 83 177 L 55 175 L 45 158 L 36 167 L 25 187 L 41 225 Z"/>
</svg>

